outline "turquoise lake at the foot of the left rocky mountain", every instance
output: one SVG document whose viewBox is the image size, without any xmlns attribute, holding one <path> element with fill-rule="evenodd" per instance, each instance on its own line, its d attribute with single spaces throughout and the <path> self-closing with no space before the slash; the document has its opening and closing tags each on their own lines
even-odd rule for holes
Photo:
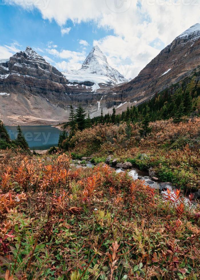
<svg viewBox="0 0 200 280">
<path fill-rule="evenodd" d="M 17 137 L 17 126 L 6 126 L 6 129 L 14 140 Z M 50 125 L 21 126 L 26 141 L 31 150 L 47 150 L 58 145 L 61 131 Z"/>
</svg>

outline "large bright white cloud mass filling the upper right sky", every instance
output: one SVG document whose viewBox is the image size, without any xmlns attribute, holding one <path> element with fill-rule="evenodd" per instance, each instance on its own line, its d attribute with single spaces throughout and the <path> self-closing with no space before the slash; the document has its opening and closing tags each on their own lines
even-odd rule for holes
<svg viewBox="0 0 200 280">
<path fill-rule="evenodd" d="M 61 27 L 71 20 L 74 24 L 92 22 L 95 28 L 112 30 L 113 36 L 101 38 L 97 43 L 112 66 L 129 65 L 127 78 L 137 75 L 161 46 L 200 21 L 200 0 L 79 0 L 78 9 L 77 1 L 73 0 L 6 1 L 27 9 L 35 7 L 43 19 L 55 19 Z"/>
</svg>

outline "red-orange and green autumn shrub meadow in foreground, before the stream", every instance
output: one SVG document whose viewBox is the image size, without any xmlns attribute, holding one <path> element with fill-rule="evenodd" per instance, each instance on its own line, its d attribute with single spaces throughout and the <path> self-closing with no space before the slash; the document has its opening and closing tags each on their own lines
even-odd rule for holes
<svg viewBox="0 0 200 280">
<path fill-rule="evenodd" d="M 7 150 L 0 170 L 0 279 L 199 279 L 192 195 L 163 199 L 108 165 L 71 167 L 66 153 Z"/>
</svg>

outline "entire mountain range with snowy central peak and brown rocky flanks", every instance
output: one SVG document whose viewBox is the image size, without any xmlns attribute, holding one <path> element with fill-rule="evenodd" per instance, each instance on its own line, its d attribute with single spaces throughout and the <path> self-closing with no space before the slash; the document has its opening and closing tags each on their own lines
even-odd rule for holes
<svg viewBox="0 0 200 280">
<path fill-rule="evenodd" d="M 68 119 L 71 104 L 84 106 L 91 116 L 100 115 L 101 107 L 104 113 L 111 113 L 113 106 L 122 112 L 198 68 L 199 23 L 175 38 L 130 82 L 109 66 L 97 46 L 80 70 L 64 75 L 27 47 L 0 61 L 0 119 L 5 124 L 59 123 Z"/>
</svg>

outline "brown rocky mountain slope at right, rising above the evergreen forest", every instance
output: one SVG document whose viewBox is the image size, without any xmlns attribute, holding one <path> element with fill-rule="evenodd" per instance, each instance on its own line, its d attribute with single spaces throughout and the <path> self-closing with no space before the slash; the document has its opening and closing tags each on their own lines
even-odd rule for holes
<svg viewBox="0 0 200 280">
<path fill-rule="evenodd" d="M 199 65 L 200 24 L 197 23 L 165 47 L 135 79 L 112 91 L 124 102 L 139 103 L 190 76 Z"/>
</svg>

